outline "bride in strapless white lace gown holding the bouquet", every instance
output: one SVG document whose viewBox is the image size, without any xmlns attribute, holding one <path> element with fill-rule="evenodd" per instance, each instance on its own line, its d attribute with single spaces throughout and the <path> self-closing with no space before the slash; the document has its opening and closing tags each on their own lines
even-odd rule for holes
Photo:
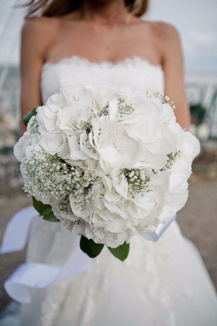
<svg viewBox="0 0 217 326">
<path fill-rule="evenodd" d="M 22 33 L 22 116 L 70 84 L 115 80 L 164 92 L 188 128 L 179 37 L 171 25 L 142 21 L 147 5 L 31 1 Z M 61 266 L 77 241 L 36 217 L 27 261 Z M 22 315 L 27 326 L 214 326 L 217 300 L 196 248 L 173 222 L 157 242 L 134 236 L 124 262 L 103 250 L 87 272 L 32 289 Z"/>
</svg>

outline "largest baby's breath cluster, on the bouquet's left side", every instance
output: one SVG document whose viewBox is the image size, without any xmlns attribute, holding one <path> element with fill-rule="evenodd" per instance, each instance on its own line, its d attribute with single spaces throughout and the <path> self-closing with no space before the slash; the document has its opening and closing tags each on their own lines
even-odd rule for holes
<svg viewBox="0 0 217 326">
<path fill-rule="evenodd" d="M 42 148 L 22 162 L 22 170 L 26 174 L 25 192 L 42 200 L 51 196 L 56 202 L 60 201 L 59 209 L 64 213 L 69 213 L 69 196 L 73 197 L 75 205 L 85 210 L 93 198 L 93 185 L 100 182 L 99 176 L 72 167 L 58 155 L 48 154 Z"/>
</svg>

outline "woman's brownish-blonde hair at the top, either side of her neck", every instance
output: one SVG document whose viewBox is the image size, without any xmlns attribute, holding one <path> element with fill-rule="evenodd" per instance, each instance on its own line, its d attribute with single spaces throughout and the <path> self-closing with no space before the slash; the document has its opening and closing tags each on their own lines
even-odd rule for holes
<svg viewBox="0 0 217 326">
<path fill-rule="evenodd" d="M 149 0 L 125 0 L 128 11 L 137 17 L 146 12 L 148 2 Z M 26 18 L 33 17 L 38 12 L 41 16 L 63 16 L 79 9 L 82 0 L 31 0 L 26 6 L 29 6 Z"/>
</svg>

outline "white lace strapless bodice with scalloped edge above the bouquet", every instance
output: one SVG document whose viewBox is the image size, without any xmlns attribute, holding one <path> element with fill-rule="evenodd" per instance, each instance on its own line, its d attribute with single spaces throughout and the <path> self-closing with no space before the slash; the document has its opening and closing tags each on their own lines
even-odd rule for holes
<svg viewBox="0 0 217 326">
<path fill-rule="evenodd" d="M 91 62 L 72 56 L 57 63 L 45 63 L 41 76 L 42 100 L 69 85 L 118 83 L 133 90 L 163 93 L 164 75 L 160 65 L 153 65 L 140 57 L 126 58 L 117 63 Z"/>
</svg>

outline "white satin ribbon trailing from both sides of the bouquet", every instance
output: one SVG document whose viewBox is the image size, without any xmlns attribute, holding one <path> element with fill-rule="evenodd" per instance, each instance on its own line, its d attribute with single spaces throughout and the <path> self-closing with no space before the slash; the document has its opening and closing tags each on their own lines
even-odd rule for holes
<svg viewBox="0 0 217 326">
<path fill-rule="evenodd" d="M 24 208 L 10 220 L 3 237 L 0 253 L 22 250 L 28 239 L 29 228 L 38 212 L 33 206 Z M 165 232 L 175 216 L 165 224 L 160 224 L 155 232 L 143 232 L 141 236 L 150 241 L 157 241 Z M 9 296 L 21 303 L 31 302 L 31 288 L 43 288 L 65 278 L 87 271 L 95 263 L 88 257 L 79 244 L 62 266 L 41 263 L 21 264 L 6 280 L 4 287 Z"/>
</svg>

